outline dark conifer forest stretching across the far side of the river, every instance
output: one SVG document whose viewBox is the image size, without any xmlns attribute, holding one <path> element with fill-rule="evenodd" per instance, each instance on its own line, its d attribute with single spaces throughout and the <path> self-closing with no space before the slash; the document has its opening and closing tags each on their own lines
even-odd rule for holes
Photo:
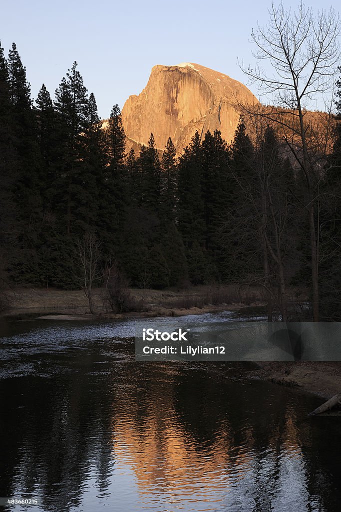
<svg viewBox="0 0 341 512">
<path fill-rule="evenodd" d="M 119 106 L 99 118 L 77 62 L 53 96 L 42 84 L 33 99 L 15 44 L 8 57 L 1 48 L 1 289 L 79 289 L 88 268 L 94 287 L 113 270 L 137 288 L 248 283 L 264 290 L 269 316 L 286 319 L 289 289 L 312 297 L 313 227 L 319 318 L 340 321 L 336 87 L 325 151 L 307 132 L 308 190 L 266 117 L 241 113 L 232 144 L 219 131 L 196 133 L 178 154 L 171 138 L 158 150 L 151 133 L 128 151 Z"/>
</svg>

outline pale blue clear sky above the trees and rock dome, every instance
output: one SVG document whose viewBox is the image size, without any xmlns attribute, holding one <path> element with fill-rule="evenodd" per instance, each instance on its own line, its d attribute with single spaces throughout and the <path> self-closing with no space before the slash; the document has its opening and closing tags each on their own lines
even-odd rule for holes
<svg viewBox="0 0 341 512">
<path fill-rule="evenodd" d="M 324 7 L 338 11 L 337 4 Z M 306 5 L 322 7 L 316 0 Z M 142 91 L 156 64 L 195 62 L 247 84 L 238 59 L 253 64 L 251 30 L 266 25 L 270 6 L 262 0 L 3 0 L 0 41 L 6 55 L 16 43 L 33 98 L 42 83 L 53 97 L 76 60 L 107 118 L 113 104 L 122 109 Z"/>
</svg>

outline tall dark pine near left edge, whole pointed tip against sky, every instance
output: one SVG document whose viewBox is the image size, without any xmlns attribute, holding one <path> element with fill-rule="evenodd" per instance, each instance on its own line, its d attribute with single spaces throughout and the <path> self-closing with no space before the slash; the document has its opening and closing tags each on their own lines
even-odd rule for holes
<svg viewBox="0 0 341 512">
<path fill-rule="evenodd" d="M 21 282 L 39 283 L 39 235 L 42 223 L 42 162 L 36 139 L 30 84 L 13 43 L 8 56 L 10 123 L 15 153 L 15 186 L 19 247 L 13 268 Z"/>
</svg>

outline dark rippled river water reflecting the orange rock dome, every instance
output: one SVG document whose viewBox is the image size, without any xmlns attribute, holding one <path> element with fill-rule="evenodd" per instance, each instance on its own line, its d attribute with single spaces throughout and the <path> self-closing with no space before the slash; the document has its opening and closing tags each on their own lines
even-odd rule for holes
<svg viewBox="0 0 341 512">
<path fill-rule="evenodd" d="M 41 500 L 4 510 L 341 510 L 339 418 L 306 416 L 320 399 L 226 379 L 229 364 L 135 362 L 132 334 L 0 325 L 0 496 Z"/>
</svg>

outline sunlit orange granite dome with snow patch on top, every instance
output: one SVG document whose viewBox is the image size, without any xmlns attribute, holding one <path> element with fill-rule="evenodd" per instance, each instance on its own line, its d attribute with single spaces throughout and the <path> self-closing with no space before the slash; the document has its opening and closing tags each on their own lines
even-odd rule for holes
<svg viewBox="0 0 341 512">
<path fill-rule="evenodd" d="M 124 130 L 131 143 L 148 144 L 154 134 L 156 147 L 164 150 L 171 137 L 178 153 L 196 131 L 220 130 L 233 140 L 240 103 L 258 103 L 242 83 L 218 71 L 185 62 L 154 66 L 139 96 L 129 96 L 122 110 Z"/>
</svg>

